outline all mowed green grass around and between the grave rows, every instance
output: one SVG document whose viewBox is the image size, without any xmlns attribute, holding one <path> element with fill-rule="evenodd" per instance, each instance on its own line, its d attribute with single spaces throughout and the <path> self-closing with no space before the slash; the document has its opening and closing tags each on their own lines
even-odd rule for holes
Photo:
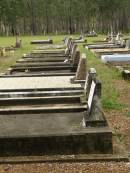
<svg viewBox="0 0 130 173">
<path fill-rule="evenodd" d="M 54 40 L 54 44 L 62 44 L 62 40 L 65 36 L 23 36 L 22 39 L 22 48 L 16 50 L 14 53 L 9 53 L 7 57 L 0 57 L 0 72 L 4 72 L 11 65 L 15 64 L 16 60 L 22 57 L 22 54 L 29 52 L 34 49 L 36 45 L 31 45 L 30 42 L 35 39 L 48 39 L 51 38 Z M 101 40 L 105 36 L 99 36 L 95 38 L 88 38 L 88 42 L 93 40 Z M 0 47 L 15 45 L 15 37 L 1 37 L 0 38 Z M 93 53 L 87 51 L 83 48 L 82 44 L 79 45 L 79 48 L 82 53 L 87 55 L 87 68 L 94 67 L 97 70 L 97 77 L 102 82 L 102 104 L 105 109 L 116 109 L 122 110 L 124 107 L 127 107 L 125 104 L 121 104 L 118 101 L 120 92 L 115 85 L 116 80 L 122 80 L 119 73 L 113 69 L 109 68 L 103 64 L 100 59 L 96 58 Z"/>
</svg>

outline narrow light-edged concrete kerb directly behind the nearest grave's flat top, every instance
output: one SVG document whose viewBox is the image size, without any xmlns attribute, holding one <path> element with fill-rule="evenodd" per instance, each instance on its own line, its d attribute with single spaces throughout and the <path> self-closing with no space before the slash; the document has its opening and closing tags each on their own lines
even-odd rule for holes
<svg viewBox="0 0 130 173">
<path fill-rule="evenodd" d="M 68 113 L 68 112 L 84 112 L 87 110 L 87 105 L 81 103 L 68 104 L 50 104 L 46 105 L 16 105 L 16 106 L 2 106 L 0 108 L 0 115 L 18 115 L 18 114 L 40 114 L 40 113 Z"/>
</svg>

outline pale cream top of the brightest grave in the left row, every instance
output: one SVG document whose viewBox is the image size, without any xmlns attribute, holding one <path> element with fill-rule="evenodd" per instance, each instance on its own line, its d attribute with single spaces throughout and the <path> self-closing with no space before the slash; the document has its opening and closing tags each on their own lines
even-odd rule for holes
<svg viewBox="0 0 130 173">
<path fill-rule="evenodd" d="M 39 88 L 81 88 L 80 84 L 70 83 L 72 76 L 58 77 L 14 77 L 0 78 L 0 90 L 39 89 Z"/>
</svg>

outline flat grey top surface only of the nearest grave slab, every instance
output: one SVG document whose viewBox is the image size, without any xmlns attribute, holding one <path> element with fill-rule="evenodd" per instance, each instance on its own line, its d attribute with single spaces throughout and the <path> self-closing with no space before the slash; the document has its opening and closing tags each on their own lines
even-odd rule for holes
<svg viewBox="0 0 130 173">
<path fill-rule="evenodd" d="M 0 115 L 0 138 L 96 133 L 97 129 L 82 126 L 83 117 L 84 113 L 23 114 L 17 117 Z M 102 128 L 98 132 L 102 132 Z M 108 128 L 107 132 L 110 132 Z"/>
</svg>

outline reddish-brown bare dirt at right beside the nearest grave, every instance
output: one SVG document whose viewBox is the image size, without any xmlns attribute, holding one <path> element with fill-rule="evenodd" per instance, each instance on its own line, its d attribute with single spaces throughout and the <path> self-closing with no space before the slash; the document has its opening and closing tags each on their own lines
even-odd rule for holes
<svg viewBox="0 0 130 173">
<path fill-rule="evenodd" d="M 130 83 L 123 80 L 116 80 L 114 84 L 119 91 L 117 101 L 126 105 L 126 107 L 122 110 L 105 110 L 105 114 L 109 126 L 117 135 L 120 142 L 125 144 L 126 150 L 130 153 Z"/>
</svg>

